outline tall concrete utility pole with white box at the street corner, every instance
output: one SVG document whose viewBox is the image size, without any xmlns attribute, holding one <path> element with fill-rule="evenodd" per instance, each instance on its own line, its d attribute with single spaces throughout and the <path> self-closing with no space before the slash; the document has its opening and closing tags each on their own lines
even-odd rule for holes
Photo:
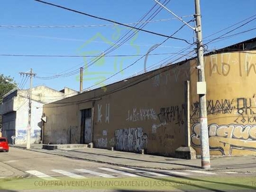
<svg viewBox="0 0 256 192">
<path fill-rule="evenodd" d="M 195 0 L 196 18 L 196 39 L 197 39 L 197 62 L 198 62 L 198 84 L 197 91 L 200 102 L 200 122 L 201 122 L 201 166 L 205 170 L 211 168 L 209 152 L 209 134 L 206 110 L 206 83 L 204 75 L 204 45 L 202 43 L 202 24 L 200 0 Z M 199 90 L 200 89 L 200 90 Z"/>
</svg>

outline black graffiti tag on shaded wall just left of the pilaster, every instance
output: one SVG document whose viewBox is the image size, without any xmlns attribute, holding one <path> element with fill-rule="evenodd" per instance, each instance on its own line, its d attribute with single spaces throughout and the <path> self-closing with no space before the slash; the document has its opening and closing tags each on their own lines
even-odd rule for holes
<svg viewBox="0 0 256 192">
<path fill-rule="evenodd" d="M 183 125 L 186 118 L 185 104 L 182 106 L 171 106 L 168 108 L 161 108 L 158 118 L 162 125 L 172 123 Z"/>
</svg>

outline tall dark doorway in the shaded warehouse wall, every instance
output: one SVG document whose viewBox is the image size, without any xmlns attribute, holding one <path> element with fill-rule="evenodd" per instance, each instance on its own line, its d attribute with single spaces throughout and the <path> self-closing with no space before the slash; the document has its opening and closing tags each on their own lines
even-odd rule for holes
<svg viewBox="0 0 256 192">
<path fill-rule="evenodd" d="M 92 109 L 81 110 L 81 143 L 92 142 Z"/>
</svg>

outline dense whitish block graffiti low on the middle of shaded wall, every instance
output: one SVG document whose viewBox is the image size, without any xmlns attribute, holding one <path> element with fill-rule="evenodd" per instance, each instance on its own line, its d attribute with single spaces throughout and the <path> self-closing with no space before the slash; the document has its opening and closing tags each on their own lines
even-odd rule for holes
<svg viewBox="0 0 256 192">
<path fill-rule="evenodd" d="M 117 129 L 115 131 L 116 150 L 139 152 L 147 148 L 148 136 L 141 127 Z"/>
</svg>

